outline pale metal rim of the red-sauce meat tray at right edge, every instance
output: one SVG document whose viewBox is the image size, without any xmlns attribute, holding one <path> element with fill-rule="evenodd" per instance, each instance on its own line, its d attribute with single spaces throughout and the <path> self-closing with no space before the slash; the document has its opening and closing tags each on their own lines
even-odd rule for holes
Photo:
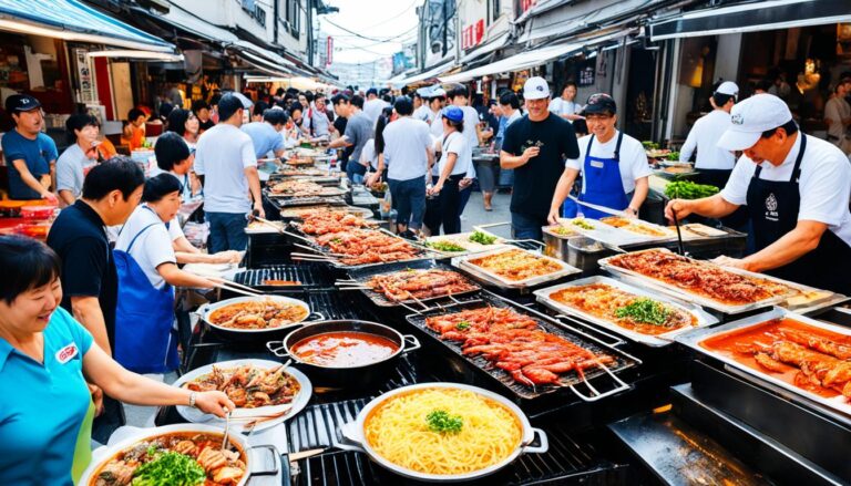
<svg viewBox="0 0 851 486">
<path fill-rule="evenodd" d="M 812 404 L 816 403 L 820 406 L 827 407 L 831 411 L 841 412 L 845 415 L 851 415 L 851 403 L 849 403 L 844 396 L 839 395 L 834 396 L 832 399 L 826 399 L 823 396 L 820 396 L 816 393 L 808 392 L 807 390 L 799 389 L 798 386 L 787 383 L 783 380 L 777 379 L 775 376 L 771 376 L 770 374 L 762 373 L 759 370 L 755 370 L 746 364 L 739 363 L 738 361 L 734 360 L 732 358 L 726 356 L 724 354 L 717 353 L 715 351 L 708 350 L 700 345 L 704 341 L 706 341 L 709 338 L 715 338 L 720 334 L 726 334 L 730 331 L 740 331 L 748 328 L 753 328 L 761 325 L 768 321 L 775 320 L 775 319 L 792 319 L 794 321 L 798 321 L 800 323 L 811 325 L 817 329 L 822 329 L 831 332 L 835 332 L 838 334 L 849 335 L 851 337 L 851 329 L 843 328 L 841 325 L 830 324 L 827 322 L 817 321 L 814 319 L 810 319 L 804 316 L 796 314 L 793 312 L 789 312 L 786 309 L 781 308 L 772 308 L 771 310 L 767 312 L 762 312 L 756 316 L 751 316 L 735 322 L 730 322 L 724 325 L 719 325 L 717 328 L 712 329 L 699 329 L 694 332 L 689 332 L 687 334 L 678 335 L 675 340 L 684 345 L 687 345 L 695 351 L 699 352 L 700 354 L 704 354 L 706 356 L 709 356 L 714 360 L 718 360 L 722 362 L 727 369 L 732 369 L 730 371 L 736 372 L 737 375 L 742 375 L 749 380 L 752 380 L 757 382 L 760 385 L 763 385 L 766 383 L 769 384 L 769 389 L 780 389 L 786 392 L 791 392 L 791 395 L 783 393 L 783 395 L 792 400 L 793 402 L 798 402 L 800 404 L 807 405 L 812 407 Z"/>
</svg>

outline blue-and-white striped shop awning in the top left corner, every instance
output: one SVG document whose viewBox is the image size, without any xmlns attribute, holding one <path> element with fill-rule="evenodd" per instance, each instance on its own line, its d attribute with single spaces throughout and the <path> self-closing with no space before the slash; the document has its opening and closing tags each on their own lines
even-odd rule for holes
<svg viewBox="0 0 851 486">
<path fill-rule="evenodd" d="M 174 45 L 76 0 L 0 0 L 0 30 L 126 49 L 174 52 Z"/>
</svg>

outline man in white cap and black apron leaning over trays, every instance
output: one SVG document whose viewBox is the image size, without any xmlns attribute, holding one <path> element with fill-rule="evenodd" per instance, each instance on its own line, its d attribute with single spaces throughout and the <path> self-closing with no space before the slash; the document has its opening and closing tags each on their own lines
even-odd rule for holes
<svg viewBox="0 0 851 486">
<path fill-rule="evenodd" d="M 842 151 L 798 130 L 789 107 L 758 94 L 732 107 L 718 145 L 744 151 L 720 194 L 674 199 L 665 215 L 718 218 L 747 205 L 757 252 L 721 265 L 851 292 L 851 165 Z"/>
</svg>

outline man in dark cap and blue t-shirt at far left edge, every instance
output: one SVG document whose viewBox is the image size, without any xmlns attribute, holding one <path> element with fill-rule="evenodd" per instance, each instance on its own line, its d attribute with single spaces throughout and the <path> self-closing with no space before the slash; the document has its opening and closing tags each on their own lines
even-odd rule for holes
<svg viewBox="0 0 851 486">
<path fill-rule="evenodd" d="M 59 203 L 50 192 L 57 172 L 57 144 L 41 133 L 44 116 L 41 103 L 25 94 L 6 99 L 6 111 L 12 115 L 14 130 L 3 135 L 2 148 L 9 166 L 11 199 L 47 199 Z"/>
</svg>

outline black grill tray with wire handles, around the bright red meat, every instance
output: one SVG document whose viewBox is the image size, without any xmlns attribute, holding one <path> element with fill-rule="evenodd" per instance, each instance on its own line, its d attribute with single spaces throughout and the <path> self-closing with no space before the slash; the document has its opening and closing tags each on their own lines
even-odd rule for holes
<svg viewBox="0 0 851 486">
<path fill-rule="evenodd" d="M 606 366 L 606 369 L 596 368 L 594 370 L 587 370 L 584 373 L 584 378 L 580 376 L 576 373 L 571 373 L 570 375 L 563 375 L 560 386 L 542 385 L 542 386 L 532 387 L 514 381 L 514 379 L 511 378 L 511 374 L 509 372 L 492 365 L 491 362 L 488 361 L 482 355 L 476 355 L 476 356 L 464 355 L 460 343 L 454 341 L 444 341 L 440 339 L 437 332 L 434 332 L 428 325 L 426 325 L 426 319 L 430 317 L 443 316 L 448 313 L 454 313 L 463 310 L 472 310 L 472 309 L 479 309 L 484 307 L 509 308 L 517 313 L 527 316 L 534 319 L 540 325 L 540 328 L 546 332 L 564 338 L 571 341 L 572 343 L 580 345 L 582 348 L 585 348 L 595 354 L 605 353 L 605 354 L 612 355 L 613 358 L 615 358 L 616 364 Z M 626 352 L 617 348 L 606 344 L 605 342 L 598 340 L 597 338 L 591 334 L 585 333 L 582 330 L 572 328 L 558 321 L 555 321 L 541 312 L 537 312 L 527 307 L 521 306 L 512 300 L 500 298 L 486 290 L 482 291 L 479 294 L 479 298 L 474 300 L 469 300 L 461 303 L 453 303 L 451 306 L 443 306 L 442 308 L 410 314 L 406 317 L 406 320 L 410 324 L 420 329 L 426 335 L 431 338 L 434 342 L 439 343 L 443 349 L 461 358 L 465 362 L 470 363 L 474 369 L 480 370 L 481 373 L 490 376 L 495 382 L 500 383 L 502 387 L 510 391 L 512 395 L 514 395 L 516 399 L 520 399 L 520 400 L 534 400 L 534 399 L 539 399 L 544 395 L 548 395 L 551 393 L 557 392 L 562 387 L 568 387 L 581 400 L 585 402 L 596 402 L 606 396 L 615 395 L 623 391 L 629 390 L 630 385 L 621 381 L 616 376 L 616 373 L 642 363 L 642 361 L 638 360 L 637 358 L 634 358 L 630 354 L 627 354 Z M 596 390 L 588 384 L 588 381 L 594 380 L 602 375 L 609 375 L 612 379 L 614 379 L 615 382 L 617 382 L 617 386 L 603 393 L 594 393 Z M 592 391 L 592 394 L 585 395 L 580 390 L 577 390 L 577 385 L 581 385 L 581 384 L 584 384 L 585 386 L 587 386 L 587 389 Z"/>
</svg>

